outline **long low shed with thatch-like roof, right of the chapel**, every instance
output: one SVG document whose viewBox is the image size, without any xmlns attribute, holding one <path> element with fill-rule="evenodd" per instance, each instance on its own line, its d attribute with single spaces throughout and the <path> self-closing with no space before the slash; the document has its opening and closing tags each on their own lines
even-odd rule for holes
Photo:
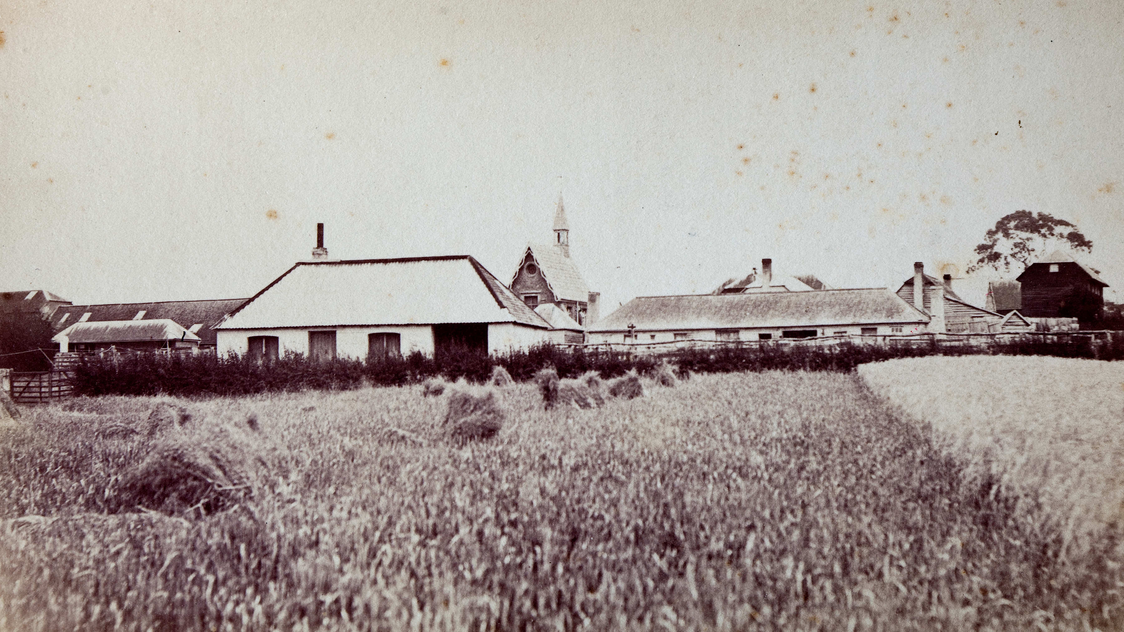
<svg viewBox="0 0 1124 632">
<path fill-rule="evenodd" d="M 590 343 L 755 341 L 916 334 L 930 317 L 886 288 L 637 297 L 589 331 Z"/>
</svg>

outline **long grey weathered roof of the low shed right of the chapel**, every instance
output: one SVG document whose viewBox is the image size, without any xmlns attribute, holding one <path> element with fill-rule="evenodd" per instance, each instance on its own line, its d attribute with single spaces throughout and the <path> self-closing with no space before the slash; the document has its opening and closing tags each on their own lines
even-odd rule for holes
<svg viewBox="0 0 1124 632">
<path fill-rule="evenodd" d="M 810 327 L 926 323 L 928 316 L 886 288 L 690 296 L 629 300 L 589 331 Z"/>
</svg>

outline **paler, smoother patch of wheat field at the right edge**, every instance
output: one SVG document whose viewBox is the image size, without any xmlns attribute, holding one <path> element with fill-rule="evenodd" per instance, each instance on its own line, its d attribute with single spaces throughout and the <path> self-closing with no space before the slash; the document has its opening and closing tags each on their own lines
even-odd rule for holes
<svg viewBox="0 0 1124 632">
<path fill-rule="evenodd" d="M 930 356 L 858 372 L 891 407 L 931 425 L 976 476 L 1044 503 L 1066 554 L 1124 526 L 1124 363 Z"/>
</svg>

